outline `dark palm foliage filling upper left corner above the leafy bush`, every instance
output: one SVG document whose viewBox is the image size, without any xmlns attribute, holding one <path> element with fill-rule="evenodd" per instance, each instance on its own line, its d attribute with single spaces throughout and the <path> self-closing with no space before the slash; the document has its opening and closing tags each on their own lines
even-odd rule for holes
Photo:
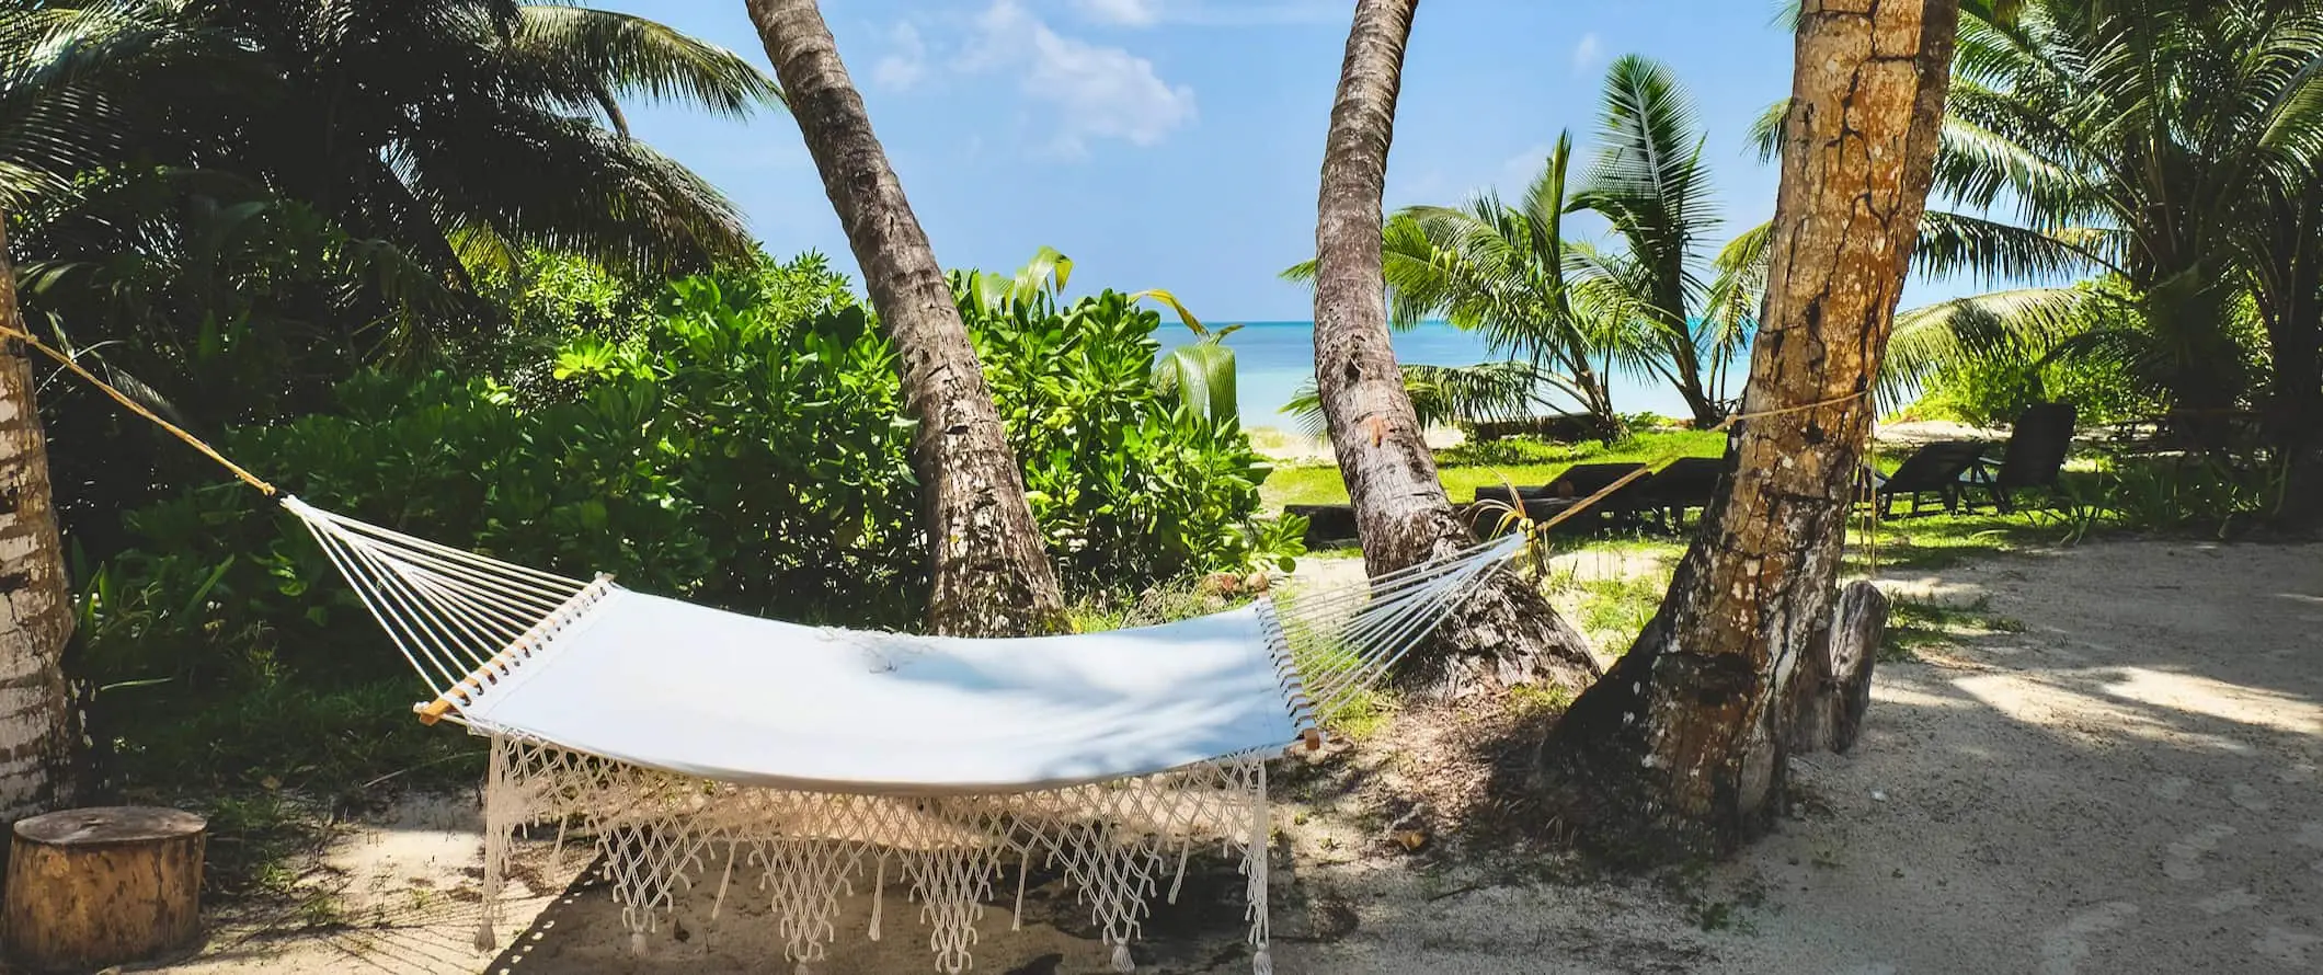
<svg viewBox="0 0 2323 975">
<path fill-rule="evenodd" d="M 26 311 L 195 429 L 325 409 L 372 364 L 504 358 L 486 292 L 534 248 L 655 279 L 750 255 L 722 195 L 627 137 L 625 100 L 739 116 L 778 91 L 569 5 L 0 0 Z M 100 478 L 163 460 L 109 411 L 58 406 L 60 481 L 165 481 Z"/>
</svg>

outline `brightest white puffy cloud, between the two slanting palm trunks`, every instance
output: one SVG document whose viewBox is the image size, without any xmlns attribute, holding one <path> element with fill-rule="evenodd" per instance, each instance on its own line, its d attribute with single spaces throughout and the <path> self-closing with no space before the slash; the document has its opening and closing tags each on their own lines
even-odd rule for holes
<svg viewBox="0 0 2323 975">
<path fill-rule="evenodd" d="M 1152 146 L 1194 121 L 1194 88 L 1162 81 L 1152 60 L 1127 49 L 1059 35 L 1017 0 L 994 0 L 976 19 L 957 67 L 1017 72 L 1024 95 L 1052 109 L 1045 149 L 1066 158 L 1087 156 L 1089 139 Z"/>
</svg>

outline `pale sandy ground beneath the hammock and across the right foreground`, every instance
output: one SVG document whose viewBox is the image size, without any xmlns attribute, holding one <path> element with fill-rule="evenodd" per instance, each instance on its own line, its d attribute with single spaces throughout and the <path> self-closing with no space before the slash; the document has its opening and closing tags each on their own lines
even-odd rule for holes
<svg viewBox="0 0 2323 975">
<path fill-rule="evenodd" d="M 1357 819 L 1285 810 L 1275 970 L 2323 970 L 2323 546 L 2091 543 L 1884 585 L 1982 599 L 2023 631 L 1882 664 L 1863 741 L 1793 764 L 1800 803 L 1777 836 L 1700 871 L 1512 880 L 1524 864 L 1389 852 Z M 476 952 L 474 815 L 420 806 L 332 854 L 344 926 L 244 922 L 177 970 L 790 970 L 748 898 L 713 926 L 699 894 L 683 940 L 632 959 L 604 889 L 558 896 L 578 857 L 532 847 L 527 864 L 541 889 L 518 887 L 502 933 L 520 952 Z M 1141 970 L 1247 970 L 1234 889 L 1231 868 L 1196 871 L 1157 908 Z M 932 970 L 918 912 L 894 891 L 885 910 L 873 945 L 853 901 L 815 973 Z M 997 905 L 983 938 L 976 970 L 1108 970 L 1055 882 L 1034 887 L 1024 931 Z"/>
</svg>

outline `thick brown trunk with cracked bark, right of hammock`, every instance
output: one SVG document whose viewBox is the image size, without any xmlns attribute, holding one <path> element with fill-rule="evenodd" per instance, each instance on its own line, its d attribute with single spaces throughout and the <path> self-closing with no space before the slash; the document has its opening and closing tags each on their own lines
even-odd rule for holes
<svg viewBox="0 0 2323 975">
<path fill-rule="evenodd" d="M 1784 692 L 1831 620 L 1928 197 L 1958 0 L 1803 7 L 1740 467 L 1661 613 L 1540 750 L 1547 806 L 1614 859 L 1726 854 L 1782 806 Z"/>
</svg>

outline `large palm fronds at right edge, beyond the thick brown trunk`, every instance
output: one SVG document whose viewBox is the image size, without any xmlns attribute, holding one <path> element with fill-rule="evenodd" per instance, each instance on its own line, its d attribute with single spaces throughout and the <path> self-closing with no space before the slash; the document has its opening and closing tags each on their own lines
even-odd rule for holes
<svg viewBox="0 0 2323 975">
<path fill-rule="evenodd" d="M 2095 272 L 1907 313 L 1896 378 L 1968 358 L 2098 358 L 2216 439 L 2272 360 L 2277 448 L 2323 425 L 2316 272 L 2323 9 L 2314 2 L 1965 5 L 1937 188 L 1991 246 L 1926 267 Z M 2002 16 L 2005 14 L 2005 16 Z M 2007 241 L 2007 246 L 2000 246 Z M 1963 248 L 1975 251 L 1975 248 Z M 2258 337 L 2265 334 L 2265 341 Z"/>
</svg>

